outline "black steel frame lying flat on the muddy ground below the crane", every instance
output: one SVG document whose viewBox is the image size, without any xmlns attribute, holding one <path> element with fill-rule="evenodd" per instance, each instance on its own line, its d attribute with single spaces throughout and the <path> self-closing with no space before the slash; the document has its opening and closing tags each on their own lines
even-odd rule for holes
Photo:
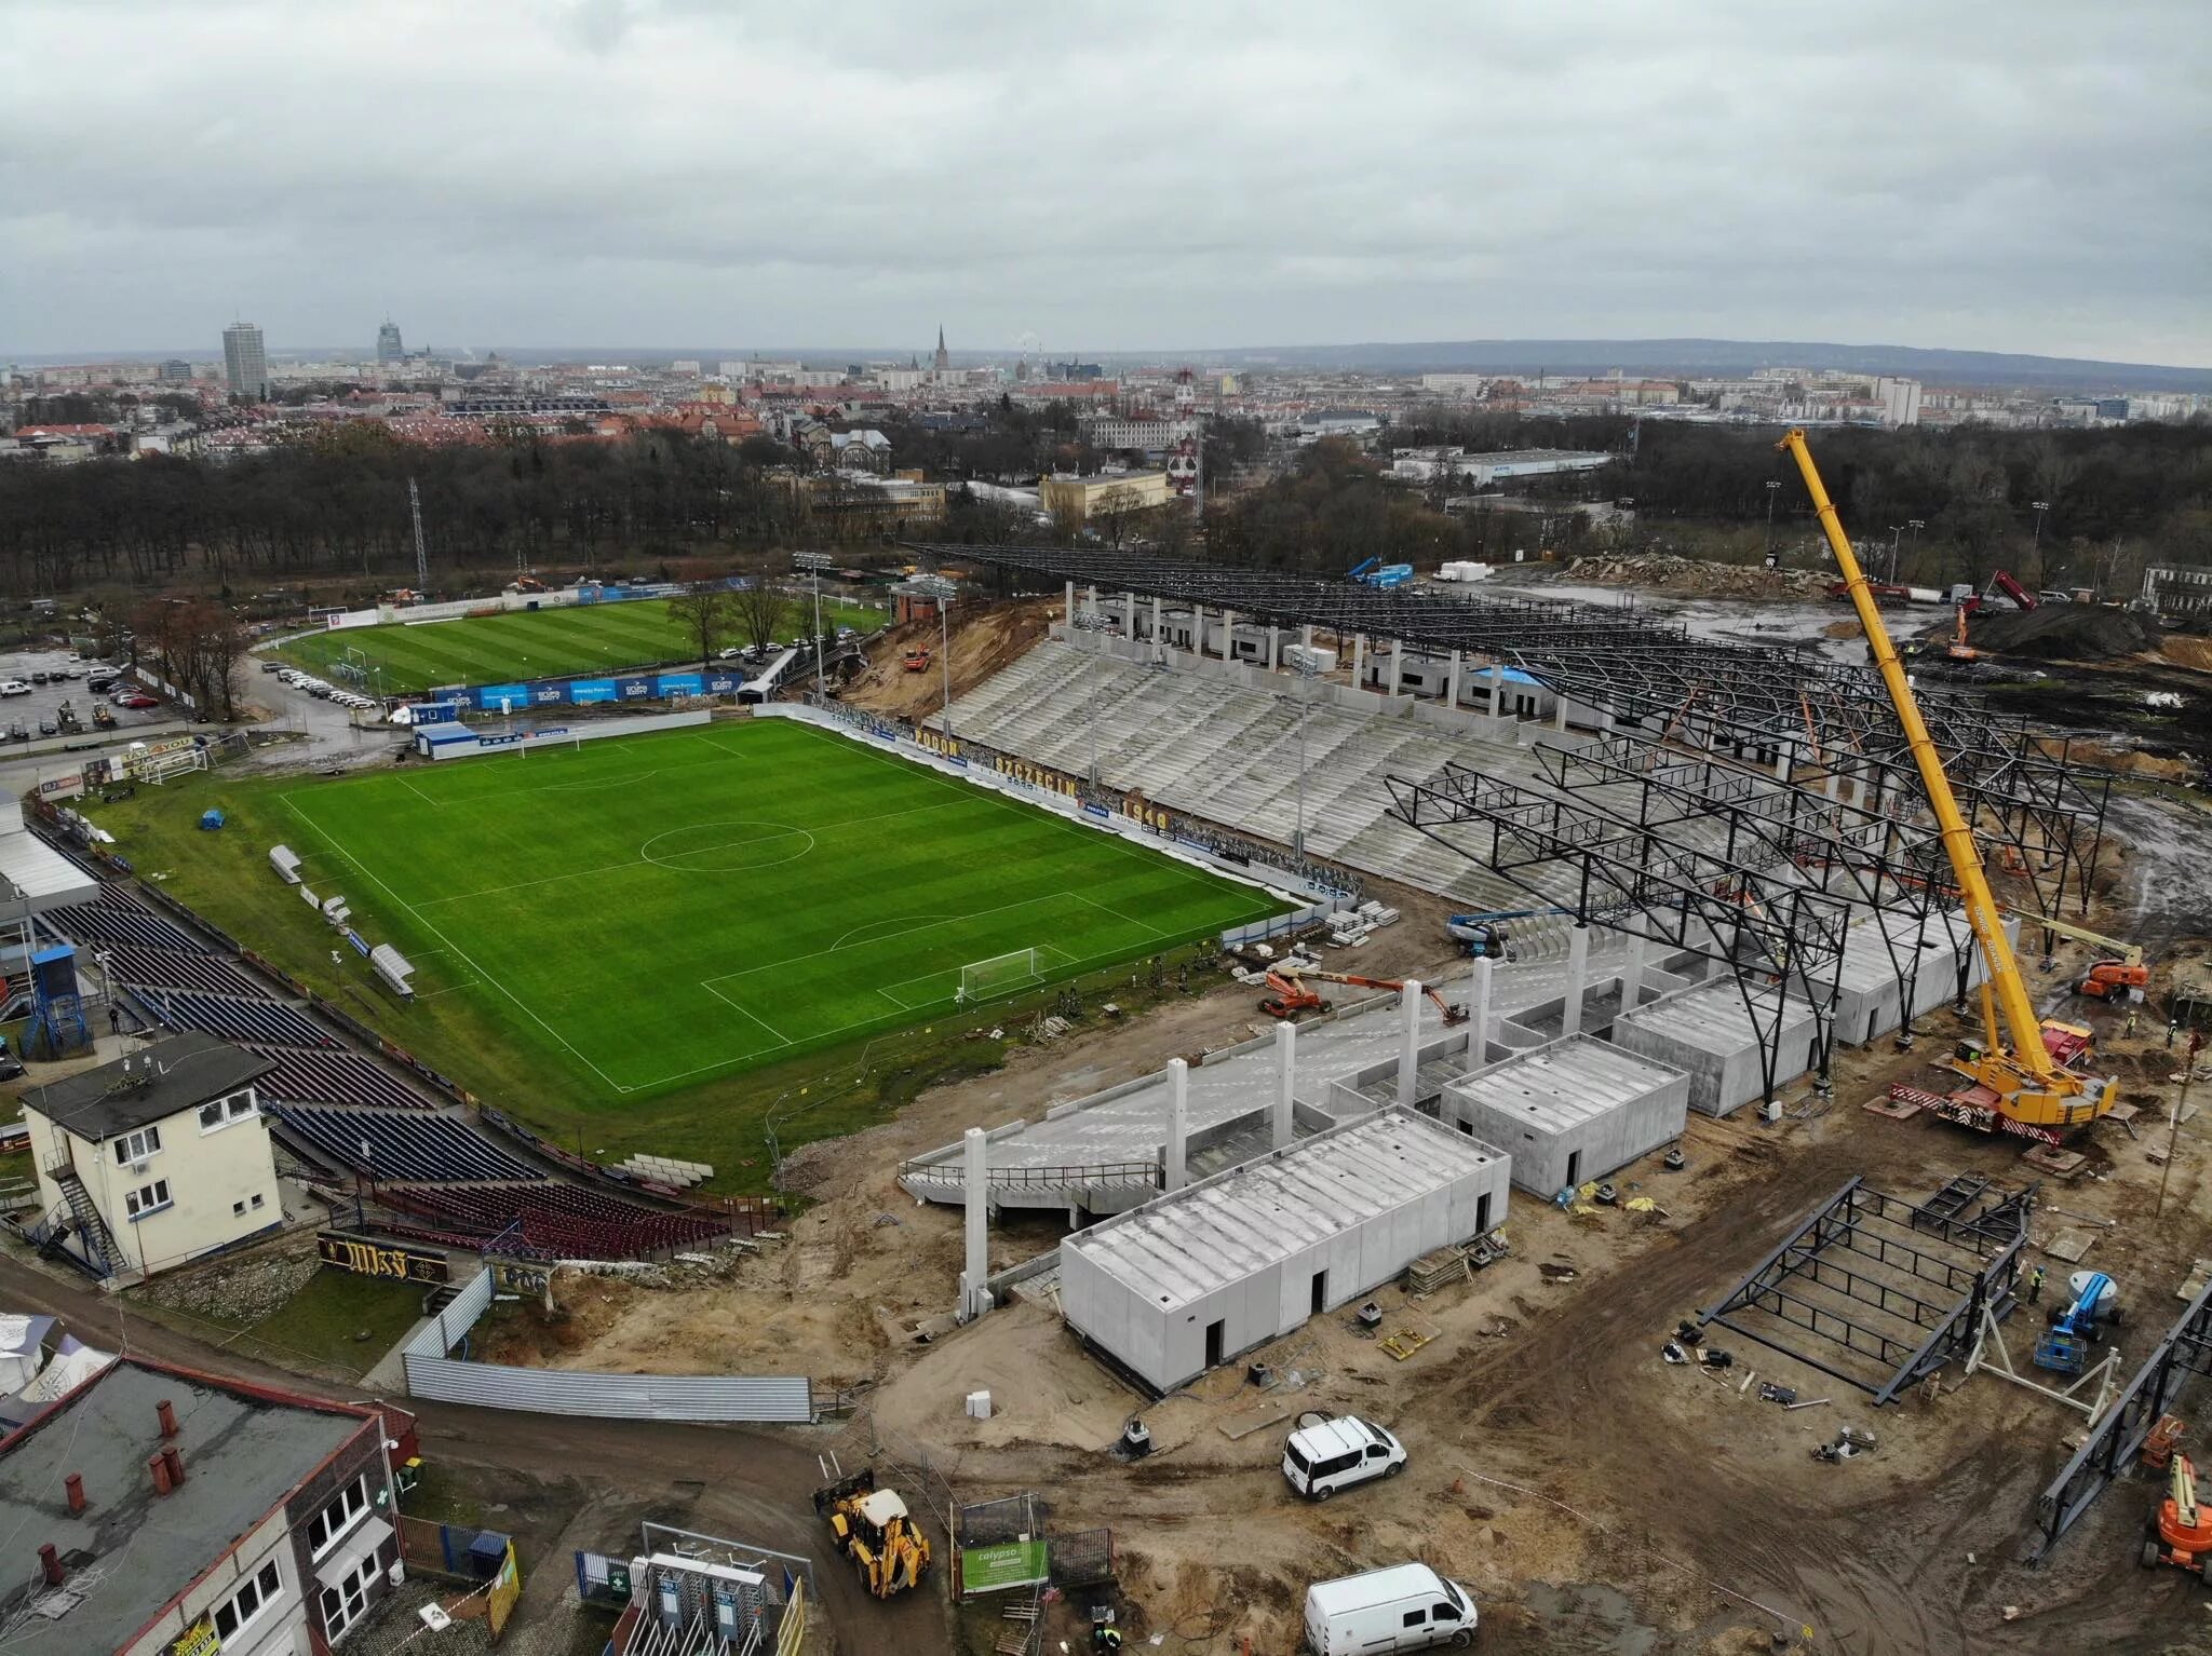
<svg viewBox="0 0 2212 1656">
<path fill-rule="evenodd" d="M 1962 1187 L 1964 1201 L 1953 1201 Z M 2033 1205 L 2033 1187 L 1997 1194 L 1984 1181 L 1953 1181 L 1933 1198 L 1909 1203 L 1851 1178 L 1798 1220 L 1717 1304 L 1699 1311 L 1697 1327 L 1728 1329 L 1871 1393 L 1876 1406 L 1893 1404 L 1973 1346 L 1984 1307 L 1997 1318 L 2013 1309 Z M 1927 1238 L 1947 1251 L 1933 1251 Z M 1882 1276 L 1863 1262 L 1880 1267 Z M 1896 1276 L 1909 1278 L 1911 1287 L 1900 1287 Z M 1814 1300 L 1807 1287 L 1865 1311 L 1851 1316 L 1834 1302 Z M 1916 1291 L 1922 1287 L 1927 1293 Z M 1790 1342 L 1747 1324 L 1747 1311 L 1765 1313 L 1805 1338 Z M 1918 1338 L 1874 1327 L 1865 1313 L 1909 1324 Z M 1838 1369 L 1827 1360 L 1827 1346 L 1889 1369 L 1887 1380 L 1869 1382 Z"/>
</svg>

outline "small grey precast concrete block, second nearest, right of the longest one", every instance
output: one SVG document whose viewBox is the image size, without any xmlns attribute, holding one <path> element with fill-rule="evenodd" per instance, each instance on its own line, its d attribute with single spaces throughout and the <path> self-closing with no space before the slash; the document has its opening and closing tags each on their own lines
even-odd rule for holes
<svg viewBox="0 0 2212 1656">
<path fill-rule="evenodd" d="M 1442 1121 L 1504 1150 L 1546 1201 L 1681 1136 L 1690 1077 L 1590 1035 L 1520 1052 L 1444 1088 Z"/>
</svg>

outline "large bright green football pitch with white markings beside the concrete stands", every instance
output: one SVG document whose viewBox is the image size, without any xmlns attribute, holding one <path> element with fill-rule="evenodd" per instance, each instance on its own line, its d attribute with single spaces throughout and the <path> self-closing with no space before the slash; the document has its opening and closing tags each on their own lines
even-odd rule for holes
<svg viewBox="0 0 2212 1656">
<path fill-rule="evenodd" d="M 467 758 L 281 794 L 310 887 L 374 906 L 599 1097 L 644 1097 L 1281 911 L 1265 891 L 794 721 Z"/>
</svg>

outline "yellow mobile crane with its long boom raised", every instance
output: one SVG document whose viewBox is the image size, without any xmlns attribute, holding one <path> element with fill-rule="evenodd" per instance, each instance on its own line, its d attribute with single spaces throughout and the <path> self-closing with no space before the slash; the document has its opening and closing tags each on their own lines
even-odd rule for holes
<svg viewBox="0 0 2212 1656">
<path fill-rule="evenodd" d="M 1874 604 L 1874 593 L 1867 590 L 1867 573 L 1858 566 L 1851 542 L 1836 517 L 1836 502 L 1827 497 L 1820 471 L 1812 462 L 1812 449 L 1805 447 L 1805 433 L 1794 429 L 1774 447 L 1796 460 L 1798 471 L 1805 475 L 1814 513 L 1818 513 L 1829 551 L 1836 555 L 1836 570 L 1843 575 L 1851 608 L 1858 610 L 1858 623 L 1867 632 L 1874 668 L 1882 674 L 1882 688 L 1889 690 L 1889 705 L 1898 712 L 1898 723 L 1905 727 L 1905 743 L 1911 747 L 1913 765 L 1920 769 L 1920 787 L 1927 789 L 1929 807 L 1936 811 L 1942 847 L 1951 858 L 1951 876 L 1958 880 L 1960 902 L 1966 909 L 1966 924 L 1982 948 L 1982 964 L 1986 968 L 1982 979 L 1984 1039 L 1980 1050 L 1962 1048 L 1951 1057 L 1949 1068 L 1973 1081 L 1975 1088 L 1986 1090 L 1989 1097 L 1969 1092 L 1960 1099 L 1953 1094 L 1953 1103 L 1973 1112 L 1995 1112 L 2002 1123 L 2013 1130 L 2028 1130 L 2028 1136 L 2035 1139 L 2051 1139 L 2070 1128 L 2084 1128 L 2112 1108 L 2115 1081 L 2081 1075 L 2053 1057 L 2051 1048 L 2057 1046 L 2068 1057 L 2086 1059 L 2088 1030 L 2079 1024 L 2044 1024 L 2037 1019 L 2035 1002 L 2028 999 L 2028 988 L 2020 979 L 2020 962 L 2004 937 L 1997 900 L 1982 876 L 1982 853 L 1973 842 L 1973 827 L 1958 809 L 1958 798 L 1951 794 L 1951 778 L 1942 774 L 1942 756 L 1936 752 L 1936 741 L 1920 716 L 1920 703 L 1913 701 L 1913 685 L 1905 677 L 1896 646 L 1889 641 L 1889 630 L 1882 626 L 1882 612 Z M 2004 1019 L 2002 1030 L 1997 1021 L 2000 1013 Z M 2008 1050 L 2002 1039 L 2006 1035 L 2011 1037 Z"/>
</svg>

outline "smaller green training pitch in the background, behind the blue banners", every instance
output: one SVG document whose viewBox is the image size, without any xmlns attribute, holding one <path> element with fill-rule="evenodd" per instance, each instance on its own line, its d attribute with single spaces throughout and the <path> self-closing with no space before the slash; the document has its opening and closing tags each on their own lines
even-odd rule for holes
<svg viewBox="0 0 2212 1656">
<path fill-rule="evenodd" d="M 874 632 L 885 610 L 823 599 L 823 626 Z M 779 639 L 812 630 L 814 606 L 794 599 Z M 750 643 L 732 623 L 728 643 Z M 276 646 L 296 668 L 336 681 L 341 663 L 380 668 L 369 685 L 385 694 L 414 694 L 449 683 L 511 683 L 560 679 L 573 672 L 639 668 L 650 661 L 690 661 L 699 641 L 677 623 L 666 599 L 575 604 L 557 610 L 511 610 L 460 621 L 394 621 L 343 632 L 307 632 Z"/>
</svg>

